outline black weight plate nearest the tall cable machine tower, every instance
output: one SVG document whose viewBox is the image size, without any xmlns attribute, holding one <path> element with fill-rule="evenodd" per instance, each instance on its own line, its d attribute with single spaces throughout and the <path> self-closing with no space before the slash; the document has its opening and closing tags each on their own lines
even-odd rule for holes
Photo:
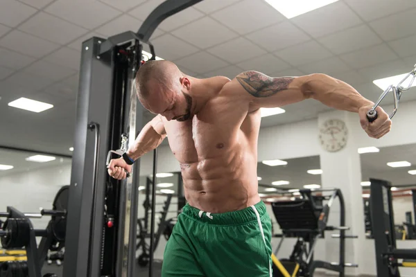
<svg viewBox="0 0 416 277">
<path fill-rule="evenodd" d="M 63 186 L 53 200 L 53 210 L 68 211 L 69 186 Z M 64 242 L 67 231 L 67 215 L 53 215 L 51 218 L 52 232 L 55 240 Z"/>
</svg>

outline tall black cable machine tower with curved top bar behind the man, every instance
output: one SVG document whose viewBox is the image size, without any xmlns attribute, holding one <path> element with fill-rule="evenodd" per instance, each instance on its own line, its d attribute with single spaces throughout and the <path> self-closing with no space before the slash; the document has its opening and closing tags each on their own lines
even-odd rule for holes
<svg viewBox="0 0 416 277">
<path fill-rule="evenodd" d="M 123 138 L 134 141 L 142 126 L 133 80 L 144 62 L 143 44 L 155 59 L 149 39 L 157 26 L 200 1 L 167 0 L 137 33 L 92 37 L 82 44 L 64 277 L 136 276 L 139 162 L 132 177 L 116 181 L 107 175 L 105 161 Z"/>
</svg>

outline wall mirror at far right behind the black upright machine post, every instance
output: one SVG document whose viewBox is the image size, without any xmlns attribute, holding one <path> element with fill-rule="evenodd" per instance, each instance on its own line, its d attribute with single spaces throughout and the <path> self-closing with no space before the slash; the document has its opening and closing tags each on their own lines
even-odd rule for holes
<svg viewBox="0 0 416 277">
<path fill-rule="evenodd" d="M 397 240 L 416 239 L 413 190 L 416 192 L 416 144 L 358 149 L 361 159 L 365 233 L 372 238 L 370 178 L 390 181 Z M 416 195 L 415 195 L 416 196 Z"/>
</svg>

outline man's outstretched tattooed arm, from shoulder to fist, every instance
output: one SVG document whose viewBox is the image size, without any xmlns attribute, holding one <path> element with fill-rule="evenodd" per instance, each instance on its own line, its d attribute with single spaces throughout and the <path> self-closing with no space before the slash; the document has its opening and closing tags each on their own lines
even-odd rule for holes
<svg viewBox="0 0 416 277">
<path fill-rule="evenodd" d="M 378 118 L 369 123 L 366 113 L 374 102 L 361 96 L 349 84 L 329 75 L 314 73 L 300 77 L 272 78 L 257 71 L 240 73 L 227 87 L 232 93 L 247 99 L 250 110 L 261 107 L 283 107 L 313 98 L 328 107 L 356 112 L 361 126 L 369 136 L 379 138 L 390 131 L 388 114 L 377 107 Z"/>
</svg>

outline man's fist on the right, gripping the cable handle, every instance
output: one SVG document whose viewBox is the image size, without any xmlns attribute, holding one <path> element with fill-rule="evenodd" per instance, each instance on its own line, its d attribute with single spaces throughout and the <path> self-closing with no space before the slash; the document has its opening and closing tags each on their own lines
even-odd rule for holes
<svg viewBox="0 0 416 277">
<path fill-rule="evenodd" d="M 374 139 L 380 139 L 381 136 L 384 136 L 392 127 L 392 120 L 390 120 L 388 114 L 379 106 L 376 107 L 377 118 L 373 122 L 369 122 L 367 118 L 367 111 L 370 111 L 372 108 L 371 105 L 363 106 L 358 110 L 358 115 L 360 116 L 361 127 L 365 132 Z"/>
</svg>

